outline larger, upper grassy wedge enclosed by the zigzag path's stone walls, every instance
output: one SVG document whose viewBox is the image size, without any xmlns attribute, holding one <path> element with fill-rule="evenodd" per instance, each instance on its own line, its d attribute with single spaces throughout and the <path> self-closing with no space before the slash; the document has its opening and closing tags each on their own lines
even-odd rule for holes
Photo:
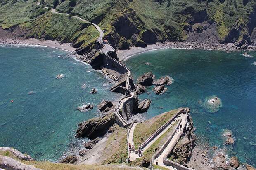
<svg viewBox="0 0 256 170">
<path fill-rule="evenodd" d="M 166 121 L 177 113 L 178 110 L 171 110 L 169 112 L 160 114 L 149 121 L 140 123 L 135 127 L 133 140 L 135 148 L 138 148 L 149 136 L 151 136 L 158 128 L 160 128 Z"/>
</svg>

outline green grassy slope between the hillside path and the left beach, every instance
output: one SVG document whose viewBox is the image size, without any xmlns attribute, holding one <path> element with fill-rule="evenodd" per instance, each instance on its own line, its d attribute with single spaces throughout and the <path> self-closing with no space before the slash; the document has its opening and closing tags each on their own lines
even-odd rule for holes
<svg viewBox="0 0 256 170">
<path fill-rule="evenodd" d="M 45 38 L 62 42 L 85 41 L 87 45 L 99 36 L 96 28 L 88 23 L 63 14 L 47 12 L 38 19 L 21 24 L 29 30 L 28 37 Z"/>
</svg>

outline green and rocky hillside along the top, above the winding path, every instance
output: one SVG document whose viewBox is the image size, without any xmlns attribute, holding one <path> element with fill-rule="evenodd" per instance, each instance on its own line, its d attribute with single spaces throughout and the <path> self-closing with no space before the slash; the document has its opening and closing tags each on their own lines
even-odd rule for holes
<svg viewBox="0 0 256 170">
<path fill-rule="evenodd" d="M 250 44 L 248 37 L 251 36 L 256 25 L 255 0 L 40 0 L 38 2 L 0 0 L 0 26 L 10 28 L 26 21 L 38 20 L 38 16 L 47 12 L 45 6 L 56 7 L 58 12 L 81 16 L 99 24 L 114 47 L 128 49 L 132 44 L 145 46 L 145 43 L 152 44 L 165 40 L 183 41 L 190 33 L 201 33 L 212 23 L 216 23 L 214 27 L 219 42 L 246 39 Z M 47 20 L 47 17 L 43 19 Z M 36 23 L 38 21 L 33 22 Z M 239 33 L 234 33 L 234 28 L 238 29 Z M 91 37 L 93 36 L 88 37 L 90 41 L 95 38 L 91 39 Z"/>
</svg>

